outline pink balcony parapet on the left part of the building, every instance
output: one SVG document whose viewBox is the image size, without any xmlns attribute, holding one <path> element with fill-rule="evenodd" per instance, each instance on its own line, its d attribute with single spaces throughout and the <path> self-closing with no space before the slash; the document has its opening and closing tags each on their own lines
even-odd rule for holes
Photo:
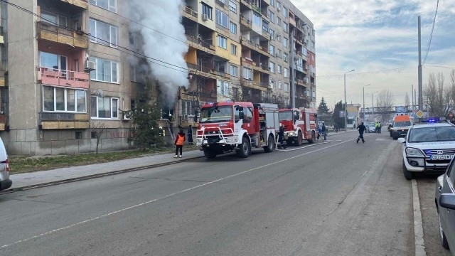
<svg viewBox="0 0 455 256">
<path fill-rule="evenodd" d="M 38 82 L 46 85 L 88 89 L 89 80 L 89 73 L 38 67 Z"/>
</svg>

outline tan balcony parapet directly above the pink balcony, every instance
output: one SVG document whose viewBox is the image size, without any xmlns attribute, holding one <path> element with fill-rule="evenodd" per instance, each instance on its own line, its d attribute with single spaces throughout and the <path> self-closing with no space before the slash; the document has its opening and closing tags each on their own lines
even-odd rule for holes
<svg viewBox="0 0 455 256">
<path fill-rule="evenodd" d="M 53 41 L 55 43 L 65 43 L 78 48 L 88 48 L 88 37 L 83 31 L 73 31 L 43 21 L 38 21 L 36 26 L 38 39 Z"/>
</svg>

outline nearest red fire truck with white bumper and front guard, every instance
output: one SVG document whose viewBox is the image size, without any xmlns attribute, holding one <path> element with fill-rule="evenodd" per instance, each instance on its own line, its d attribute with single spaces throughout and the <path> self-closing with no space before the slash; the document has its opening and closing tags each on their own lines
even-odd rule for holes
<svg viewBox="0 0 455 256">
<path fill-rule="evenodd" d="M 216 102 L 200 110 L 196 144 L 208 159 L 226 151 L 241 158 L 252 147 L 272 152 L 279 132 L 278 105 L 252 102 Z"/>
</svg>

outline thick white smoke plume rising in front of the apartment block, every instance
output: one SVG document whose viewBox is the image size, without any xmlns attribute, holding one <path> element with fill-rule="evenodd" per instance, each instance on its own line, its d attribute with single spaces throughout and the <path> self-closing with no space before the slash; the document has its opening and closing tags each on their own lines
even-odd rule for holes
<svg viewBox="0 0 455 256">
<path fill-rule="evenodd" d="M 128 5 L 132 21 L 137 22 L 131 23 L 131 30 L 141 33 L 144 55 L 155 59 L 148 59 L 151 73 L 159 80 L 164 100 L 171 107 L 178 87 L 188 86 L 188 67 L 183 58 L 188 46 L 181 24 L 183 0 L 130 0 Z"/>
</svg>

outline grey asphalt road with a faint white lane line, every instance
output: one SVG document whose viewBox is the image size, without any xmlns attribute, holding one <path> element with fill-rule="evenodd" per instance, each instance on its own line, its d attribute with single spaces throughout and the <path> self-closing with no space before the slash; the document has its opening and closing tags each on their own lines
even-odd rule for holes
<svg viewBox="0 0 455 256">
<path fill-rule="evenodd" d="M 0 255 L 414 255 L 400 145 L 355 135 L 2 195 Z"/>
</svg>

